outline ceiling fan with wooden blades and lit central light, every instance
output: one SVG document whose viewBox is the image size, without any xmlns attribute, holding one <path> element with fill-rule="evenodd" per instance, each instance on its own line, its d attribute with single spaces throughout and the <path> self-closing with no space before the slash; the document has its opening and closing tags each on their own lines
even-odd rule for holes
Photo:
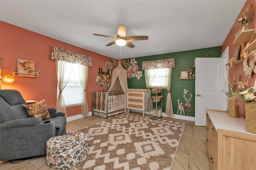
<svg viewBox="0 0 256 170">
<path fill-rule="evenodd" d="M 116 40 L 108 43 L 106 46 L 110 46 L 110 45 L 113 45 L 116 43 L 119 46 L 126 45 L 130 48 L 133 48 L 133 47 L 135 47 L 135 45 L 133 45 L 133 43 L 131 43 L 130 41 L 148 40 L 148 36 L 127 36 L 126 37 L 126 26 L 123 26 L 120 24 L 118 25 L 118 28 L 117 28 L 117 36 L 116 37 L 105 36 L 105 35 L 101 35 L 101 34 L 93 34 L 93 35 L 116 39 Z"/>
</svg>

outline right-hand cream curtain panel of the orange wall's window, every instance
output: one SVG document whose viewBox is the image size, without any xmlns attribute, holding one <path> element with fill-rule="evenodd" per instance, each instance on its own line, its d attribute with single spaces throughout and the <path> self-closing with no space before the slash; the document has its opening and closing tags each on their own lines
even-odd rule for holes
<svg viewBox="0 0 256 170">
<path fill-rule="evenodd" d="M 87 88 L 87 82 L 88 82 L 89 66 L 78 65 L 78 67 L 79 67 L 79 76 L 80 76 L 81 86 L 84 89 L 84 95 L 83 95 L 82 105 L 81 105 L 81 115 L 88 116 L 89 109 L 88 109 L 86 88 Z"/>
</svg>

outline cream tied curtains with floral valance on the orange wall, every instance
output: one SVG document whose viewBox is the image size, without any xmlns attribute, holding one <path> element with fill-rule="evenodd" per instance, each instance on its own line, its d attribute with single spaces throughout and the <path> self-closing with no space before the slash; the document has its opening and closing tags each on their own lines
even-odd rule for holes
<svg viewBox="0 0 256 170">
<path fill-rule="evenodd" d="M 84 115 L 84 116 L 89 115 L 86 87 L 88 82 L 88 67 L 92 67 L 91 57 L 84 54 L 79 54 L 73 51 L 68 51 L 66 49 L 52 47 L 51 59 L 56 60 L 56 74 L 58 77 L 59 95 L 56 103 L 57 111 L 64 112 L 66 114 L 66 105 L 61 93 L 63 89 L 66 87 L 66 84 L 68 83 L 71 71 L 68 71 L 69 75 L 66 75 L 64 72 L 68 68 L 63 67 L 62 70 L 58 70 L 58 61 L 66 61 L 66 62 L 76 63 L 84 66 L 84 67 L 81 67 L 80 69 L 81 86 L 84 89 L 84 96 L 82 99 L 82 106 L 81 106 L 81 115 Z M 58 73 L 62 73 L 62 75 Z"/>
</svg>

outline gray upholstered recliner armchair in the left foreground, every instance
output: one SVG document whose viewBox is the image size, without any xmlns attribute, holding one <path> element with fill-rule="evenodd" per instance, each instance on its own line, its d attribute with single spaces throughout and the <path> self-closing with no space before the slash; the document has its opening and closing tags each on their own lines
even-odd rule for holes
<svg viewBox="0 0 256 170">
<path fill-rule="evenodd" d="M 0 161 L 46 154 L 46 141 L 66 133 L 64 113 L 48 108 L 50 119 L 29 118 L 17 90 L 0 90 Z M 50 123 L 44 123 L 51 121 Z"/>
</svg>

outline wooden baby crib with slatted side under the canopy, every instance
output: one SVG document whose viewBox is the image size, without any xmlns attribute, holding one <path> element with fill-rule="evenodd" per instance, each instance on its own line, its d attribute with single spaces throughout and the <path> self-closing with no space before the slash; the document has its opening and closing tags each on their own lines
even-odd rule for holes
<svg viewBox="0 0 256 170">
<path fill-rule="evenodd" d="M 124 112 L 125 95 L 123 91 L 93 92 L 92 115 L 108 119 Z"/>
</svg>

